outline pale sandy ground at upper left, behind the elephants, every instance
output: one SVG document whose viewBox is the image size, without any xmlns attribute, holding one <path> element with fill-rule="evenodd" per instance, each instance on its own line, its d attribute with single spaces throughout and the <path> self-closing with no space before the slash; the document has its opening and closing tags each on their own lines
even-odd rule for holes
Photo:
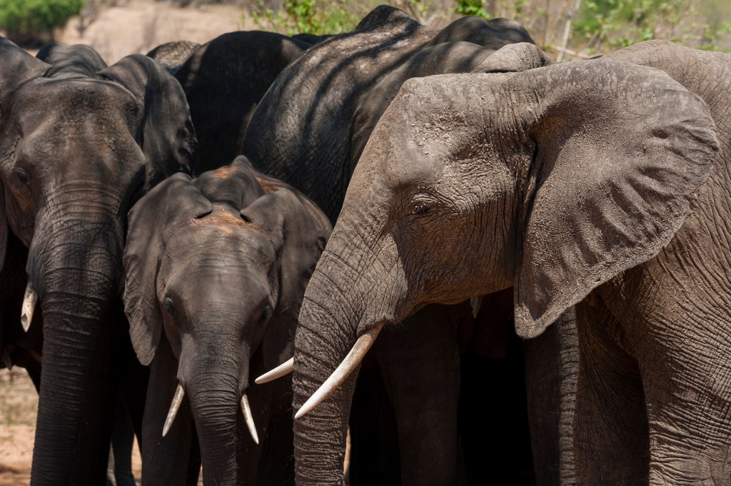
<svg viewBox="0 0 731 486">
<path fill-rule="evenodd" d="M 127 0 L 102 12 L 83 34 L 79 20 L 69 20 L 56 34 L 62 44 L 88 44 L 107 64 L 133 53 L 148 53 L 165 42 L 189 40 L 202 44 L 226 32 L 258 29 L 243 10 L 232 5 L 173 7 L 162 1 Z"/>
</svg>

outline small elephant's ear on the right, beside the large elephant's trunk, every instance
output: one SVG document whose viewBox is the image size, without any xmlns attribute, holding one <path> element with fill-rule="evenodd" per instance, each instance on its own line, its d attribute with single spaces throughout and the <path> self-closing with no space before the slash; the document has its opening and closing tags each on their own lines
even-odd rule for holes
<svg viewBox="0 0 731 486">
<path fill-rule="evenodd" d="M 276 321 L 262 339 L 265 368 L 271 369 L 278 366 L 282 358 L 292 356 L 294 323 L 300 314 L 305 287 L 333 227 L 314 202 L 284 185 L 252 202 L 241 210 L 241 216 L 264 228 L 281 244 L 281 286 L 275 308 Z"/>
</svg>

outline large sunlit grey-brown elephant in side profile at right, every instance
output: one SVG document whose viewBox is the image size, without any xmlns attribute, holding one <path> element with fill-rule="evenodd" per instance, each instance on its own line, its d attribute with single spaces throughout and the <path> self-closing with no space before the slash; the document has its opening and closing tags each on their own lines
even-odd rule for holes
<svg viewBox="0 0 731 486">
<path fill-rule="evenodd" d="M 366 330 L 512 287 L 523 338 L 576 304 L 578 484 L 730 484 L 731 56 L 609 57 L 670 76 L 602 58 L 404 83 L 308 286 L 295 409 Z M 295 429 L 305 460 L 353 380 Z"/>
</svg>

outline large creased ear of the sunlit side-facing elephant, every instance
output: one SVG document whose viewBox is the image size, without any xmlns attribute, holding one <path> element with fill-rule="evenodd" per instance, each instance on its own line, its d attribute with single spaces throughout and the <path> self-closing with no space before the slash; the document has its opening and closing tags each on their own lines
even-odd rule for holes
<svg viewBox="0 0 731 486">
<path fill-rule="evenodd" d="M 524 120 L 537 150 L 523 186 L 515 327 L 531 338 L 670 242 L 719 144 L 705 102 L 657 69 L 597 60 L 523 75 L 518 89 L 539 101 Z"/>
</svg>

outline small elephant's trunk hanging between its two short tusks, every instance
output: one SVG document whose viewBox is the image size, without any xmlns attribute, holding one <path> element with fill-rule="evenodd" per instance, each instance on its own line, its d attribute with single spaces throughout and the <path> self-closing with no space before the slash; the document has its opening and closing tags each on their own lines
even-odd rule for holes
<svg viewBox="0 0 731 486">
<path fill-rule="evenodd" d="M 238 371 L 238 370 L 236 370 Z M 205 485 L 235 485 L 238 373 L 200 373 L 188 386 Z"/>
</svg>

